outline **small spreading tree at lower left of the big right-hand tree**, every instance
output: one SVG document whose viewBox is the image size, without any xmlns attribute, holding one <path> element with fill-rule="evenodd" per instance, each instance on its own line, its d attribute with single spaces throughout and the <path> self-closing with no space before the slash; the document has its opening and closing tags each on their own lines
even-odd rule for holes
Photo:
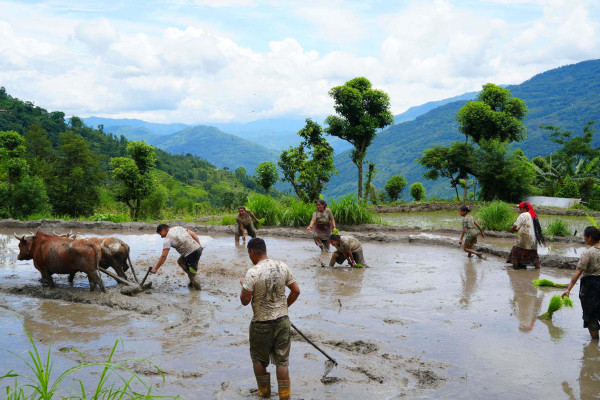
<svg viewBox="0 0 600 400">
<path fill-rule="evenodd" d="M 425 150 L 418 162 L 428 169 L 424 174 L 426 179 L 437 180 L 440 176 L 450 179 L 457 198 L 461 180 L 474 175 L 475 157 L 470 143 L 456 141 L 450 147 L 434 146 Z"/>
</svg>

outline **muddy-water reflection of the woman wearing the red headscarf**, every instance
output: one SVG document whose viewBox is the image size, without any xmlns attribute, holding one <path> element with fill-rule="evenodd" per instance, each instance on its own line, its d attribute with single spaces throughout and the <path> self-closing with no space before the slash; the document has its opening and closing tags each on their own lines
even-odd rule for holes
<svg viewBox="0 0 600 400">
<path fill-rule="evenodd" d="M 519 330 L 530 332 L 533 329 L 544 299 L 537 287 L 531 283 L 540 278 L 539 269 L 514 270 L 507 268 L 513 298 L 510 301 L 514 314 L 519 320 Z"/>
</svg>

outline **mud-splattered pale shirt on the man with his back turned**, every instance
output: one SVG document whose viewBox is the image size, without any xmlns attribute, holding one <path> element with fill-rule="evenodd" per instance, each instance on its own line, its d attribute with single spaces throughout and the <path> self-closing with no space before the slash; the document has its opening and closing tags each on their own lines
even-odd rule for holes
<svg viewBox="0 0 600 400">
<path fill-rule="evenodd" d="M 270 258 L 250 268 L 244 289 L 252 292 L 252 322 L 272 321 L 288 315 L 285 288 L 296 282 L 289 267 Z"/>
</svg>

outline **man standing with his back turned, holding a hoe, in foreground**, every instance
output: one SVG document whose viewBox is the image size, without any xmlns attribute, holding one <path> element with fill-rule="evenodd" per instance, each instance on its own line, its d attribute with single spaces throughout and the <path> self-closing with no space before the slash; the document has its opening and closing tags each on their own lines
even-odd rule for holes
<svg viewBox="0 0 600 400">
<path fill-rule="evenodd" d="M 250 358 L 258 383 L 258 395 L 271 397 L 269 360 L 276 365 L 280 399 L 290 398 L 290 320 L 288 307 L 300 295 L 300 288 L 290 269 L 281 261 L 267 257 L 267 246 L 260 238 L 248 242 L 248 257 L 254 264 L 240 281 L 240 300 L 246 306 L 252 302 L 250 323 Z M 290 293 L 285 297 L 286 286 Z"/>
</svg>

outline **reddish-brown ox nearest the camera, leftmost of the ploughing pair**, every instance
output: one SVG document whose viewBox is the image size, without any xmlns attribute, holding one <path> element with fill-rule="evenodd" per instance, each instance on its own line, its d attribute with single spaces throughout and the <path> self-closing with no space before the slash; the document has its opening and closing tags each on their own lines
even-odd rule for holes
<svg viewBox="0 0 600 400">
<path fill-rule="evenodd" d="M 100 265 L 100 248 L 85 240 L 48 235 L 37 232 L 33 236 L 15 237 L 19 239 L 19 255 L 17 260 L 33 260 L 33 265 L 42 274 L 42 281 L 54 286 L 52 274 L 69 274 L 83 272 L 88 276 L 90 290 L 96 285 L 105 292 L 104 283 L 98 274 Z"/>
</svg>

